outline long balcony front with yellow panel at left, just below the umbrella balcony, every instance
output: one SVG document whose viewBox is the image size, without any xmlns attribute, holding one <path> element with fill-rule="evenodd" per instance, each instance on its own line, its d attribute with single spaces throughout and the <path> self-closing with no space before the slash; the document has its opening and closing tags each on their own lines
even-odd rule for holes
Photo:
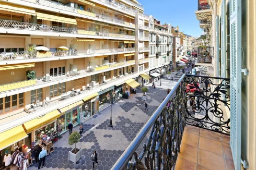
<svg viewBox="0 0 256 170">
<path fill-rule="evenodd" d="M 19 81 L 14 83 L 2 84 L 0 85 L 0 94 L 1 93 L 3 94 L 4 92 L 7 92 L 7 91 L 13 91 L 13 90 L 17 90 L 25 87 L 31 87 L 31 86 L 33 86 L 33 89 L 38 89 L 39 86 L 40 88 L 48 87 L 48 86 L 51 86 L 52 84 L 60 83 L 60 81 L 61 82 L 72 81 L 75 79 L 96 75 L 105 71 L 110 71 L 110 70 L 114 70 L 114 69 L 118 69 L 126 66 L 131 66 L 134 64 L 135 64 L 135 60 L 128 60 L 128 61 L 119 62 L 119 63 L 109 63 L 102 66 L 94 66 L 94 67 L 89 66 L 87 67 L 87 69 L 84 69 L 84 70 L 67 71 L 64 74 L 57 74 L 53 76 L 46 75 L 44 77 L 34 78 L 31 80 L 24 80 L 24 81 Z"/>
</svg>

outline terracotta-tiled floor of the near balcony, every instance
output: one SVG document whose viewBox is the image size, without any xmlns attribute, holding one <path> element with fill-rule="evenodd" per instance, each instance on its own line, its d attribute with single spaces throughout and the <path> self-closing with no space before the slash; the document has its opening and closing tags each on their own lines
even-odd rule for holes
<svg viewBox="0 0 256 170">
<path fill-rule="evenodd" d="M 187 125 L 175 169 L 235 169 L 229 136 Z"/>
</svg>

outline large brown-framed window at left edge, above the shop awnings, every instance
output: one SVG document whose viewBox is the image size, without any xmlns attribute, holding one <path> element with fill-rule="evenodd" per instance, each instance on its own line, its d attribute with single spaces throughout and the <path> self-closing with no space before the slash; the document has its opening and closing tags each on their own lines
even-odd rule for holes
<svg viewBox="0 0 256 170">
<path fill-rule="evenodd" d="M 0 114 L 15 111 L 24 107 L 24 93 L 0 98 Z"/>
</svg>

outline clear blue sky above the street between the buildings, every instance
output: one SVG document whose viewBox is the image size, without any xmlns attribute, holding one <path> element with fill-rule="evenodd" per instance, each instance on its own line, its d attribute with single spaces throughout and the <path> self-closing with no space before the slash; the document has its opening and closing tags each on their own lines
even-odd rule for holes
<svg viewBox="0 0 256 170">
<path fill-rule="evenodd" d="M 197 0 L 138 0 L 144 7 L 144 14 L 153 15 L 161 24 L 179 26 L 179 31 L 199 37 L 202 30 L 195 17 Z"/>
</svg>

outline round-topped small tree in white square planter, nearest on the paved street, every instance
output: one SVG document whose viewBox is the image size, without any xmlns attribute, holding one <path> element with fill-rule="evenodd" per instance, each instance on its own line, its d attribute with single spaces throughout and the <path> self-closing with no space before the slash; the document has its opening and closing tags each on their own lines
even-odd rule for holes
<svg viewBox="0 0 256 170">
<path fill-rule="evenodd" d="M 76 147 L 76 143 L 80 140 L 80 134 L 74 131 L 68 138 L 68 144 L 75 144 L 75 148 L 68 152 L 68 160 L 76 164 L 76 162 L 82 157 L 82 149 Z"/>
</svg>

